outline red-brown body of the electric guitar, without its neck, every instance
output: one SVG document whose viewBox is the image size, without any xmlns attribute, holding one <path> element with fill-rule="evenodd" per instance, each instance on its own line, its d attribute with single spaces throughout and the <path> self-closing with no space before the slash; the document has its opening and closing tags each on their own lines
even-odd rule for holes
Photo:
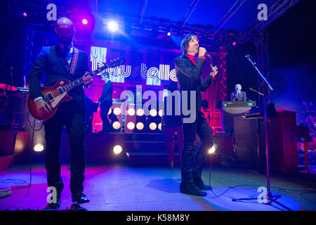
<svg viewBox="0 0 316 225">
<path fill-rule="evenodd" d="M 67 91 L 62 90 L 62 88 L 69 83 L 70 82 L 67 79 L 60 79 L 53 86 L 43 86 L 41 93 L 44 95 L 44 100 L 51 105 L 51 113 L 47 113 L 44 116 L 39 115 L 37 113 L 37 106 L 30 97 L 27 98 L 27 108 L 29 109 L 29 113 L 31 113 L 37 120 L 48 120 L 51 118 L 58 110 L 60 103 L 72 100 L 72 97 L 67 94 Z"/>
</svg>

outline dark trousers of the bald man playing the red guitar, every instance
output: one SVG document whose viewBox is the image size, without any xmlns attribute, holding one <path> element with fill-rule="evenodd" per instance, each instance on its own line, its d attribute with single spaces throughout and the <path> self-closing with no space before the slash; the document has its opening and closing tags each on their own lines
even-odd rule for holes
<svg viewBox="0 0 316 225">
<path fill-rule="evenodd" d="M 44 122 L 45 127 L 45 166 L 48 186 L 54 186 L 57 193 L 64 188 L 60 176 L 60 141 L 62 128 L 67 128 L 70 143 L 70 190 L 75 195 L 84 191 L 85 146 L 84 113 L 74 100 L 61 103 L 58 111 Z"/>
</svg>

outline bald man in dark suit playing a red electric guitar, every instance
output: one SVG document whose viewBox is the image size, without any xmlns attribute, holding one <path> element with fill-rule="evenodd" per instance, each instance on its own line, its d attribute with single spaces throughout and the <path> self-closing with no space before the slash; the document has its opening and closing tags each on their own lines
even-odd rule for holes
<svg viewBox="0 0 316 225">
<path fill-rule="evenodd" d="M 58 45 L 43 47 L 29 73 L 29 94 L 34 99 L 37 112 L 46 115 L 51 111 L 51 106 L 44 101 L 41 93 L 40 79 L 46 72 L 45 86 L 53 86 L 59 79 L 77 79 L 84 75 L 84 86 L 88 87 L 92 77 L 88 75 L 88 56 L 84 51 L 78 52 L 77 67 L 70 74 L 70 67 L 74 52 L 77 49 L 72 45 L 72 39 L 76 30 L 74 24 L 68 18 L 57 20 L 55 32 L 58 37 Z M 76 63 L 74 63 L 76 64 Z M 71 150 L 70 190 L 72 202 L 88 203 L 89 200 L 84 191 L 84 169 L 85 169 L 85 101 L 83 86 L 77 86 L 69 92 L 73 100 L 61 103 L 53 117 L 44 122 L 46 152 L 45 166 L 47 172 L 48 186 L 53 186 L 57 191 L 57 202 L 48 203 L 46 209 L 60 208 L 60 197 L 64 185 L 60 176 L 60 139 L 62 127 L 67 128 L 68 141 Z"/>
</svg>

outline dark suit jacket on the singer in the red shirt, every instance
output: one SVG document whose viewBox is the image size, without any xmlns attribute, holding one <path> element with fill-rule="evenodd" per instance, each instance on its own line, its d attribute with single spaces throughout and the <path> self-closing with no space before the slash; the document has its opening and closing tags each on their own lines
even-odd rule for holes
<svg viewBox="0 0 316 225">
<path fill-rule="evenodd" d="M 188 107 L 190 107 L 190 91 L 196 91 L 197 111 L 201 110 L 201 91 L 206 91 L 206 89 L 214 81 L 212 76 L 207 77 L 204 82 L 202 80 L 202 68 L 205 63 L 205 59 L 197 58 L 194 65 L 187 56 L 180 56 L 174 60 L 174 63 L 176 65 L 176 76 L 180 84 L 180 91 L 187 91 L 188 94 Z"/>
</svg>

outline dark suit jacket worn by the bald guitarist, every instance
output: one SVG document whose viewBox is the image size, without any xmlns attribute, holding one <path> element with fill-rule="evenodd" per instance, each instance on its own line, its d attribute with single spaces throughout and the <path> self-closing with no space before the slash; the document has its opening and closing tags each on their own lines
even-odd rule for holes
<svg viewBox="0 0 316 225">
<path fill-rule="evenodd" d="M 77 79 L 82 77 L 85 72 L 89 71 L 88 56 L 84 51 L 79 51 L 77 68 L 74 71 L 74 76 L 68 77 L 69 70 L 67 70 L 65 59 L 62 57 L 60 46 L 44 46 L 41 48 L 31 72 L 29 72 L 29 95 L 33 99 L 39 96 L 44 97 L 41 93 L 41 86 L 39 84 L 44 72 L 46 72 L 44 86 L 53 86 L 59 79 Z M 82 113 L 85 113 L 84 86 L 79 85 L 69 91 L 68 94 L 74 98 L 74 101 L 77 104 L 79 104 Z M 67 104 L 67 102 L 63 104 Z"/>
</svg>

